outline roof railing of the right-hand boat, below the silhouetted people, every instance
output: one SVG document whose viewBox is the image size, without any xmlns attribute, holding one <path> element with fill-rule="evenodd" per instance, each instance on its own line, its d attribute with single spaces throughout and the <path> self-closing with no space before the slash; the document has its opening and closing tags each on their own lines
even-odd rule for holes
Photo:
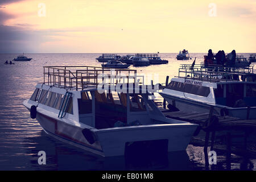
<svg viewBox="0 0 256 182">
<path fill-rule="evenodd" d="M 208 82 L 234 81 L 233 76 L 256 77 L 253 73 L 253 66 L 247 67 L 225 67 L 222 65 L 204 64 L 181 64 L 179 68 L 179 78 L 190 78 L 194 80 Z M 236 80 L 238 81 L 238 80 Z"/>
</svg>

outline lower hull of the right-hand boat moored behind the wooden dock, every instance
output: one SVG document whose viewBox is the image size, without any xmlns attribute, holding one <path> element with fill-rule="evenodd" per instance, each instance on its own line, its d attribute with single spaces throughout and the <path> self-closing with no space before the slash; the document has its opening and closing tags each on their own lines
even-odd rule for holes
<svg viewBox="0 0 256 182">
<path fill-rule="evenodd" d="M 185 98 L 179 98 L 175 96 L 170 96 L 167 94 L 160 93 L 161 96 L 168 102 L 168 104 L 173 105 L 175 101 L 175 107 L 183 111 L 196 111 L 199 113 L 208 113 L 210 107 L 213 105 L 206 104 L 203 102 L 197 102 L 193 100 L 187 100 Z M 221 114 L 221 109 L 226 108 L 228 110 L 228 115 L 231 117 L 246 119 L 247 118 L 247 107 L 227 107 L 216 105 L 214 106 L 214 113 Z M 250 119 L 256 119 L 256 107 L 250 108 Z"/>
</svg>

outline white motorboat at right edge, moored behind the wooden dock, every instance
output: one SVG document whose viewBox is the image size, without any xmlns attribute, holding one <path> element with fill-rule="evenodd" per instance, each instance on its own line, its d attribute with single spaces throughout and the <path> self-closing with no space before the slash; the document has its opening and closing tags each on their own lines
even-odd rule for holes
<svg viewBox="0 0 256 182">
<path fill-rule="evenodd" d="M 256 118 L 256 75 L 248 68 L 183 64 L 179 76 L 159 93 L 177 110 Z M 175 103 L 175 104 L 174 104 Z"/>
</svg>

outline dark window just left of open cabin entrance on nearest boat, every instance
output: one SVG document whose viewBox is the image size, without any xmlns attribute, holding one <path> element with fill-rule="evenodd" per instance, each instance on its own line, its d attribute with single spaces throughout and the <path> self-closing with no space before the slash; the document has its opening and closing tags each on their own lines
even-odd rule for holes
<svg viewBox="0 0 256 182">
<path fill-rule="evenodd" d="M 79 114 L 92 113 L 92 100 L 87 92 L 82 92 L 82 98 L 79 98 L 77 101 L 79 104 Z"/>
</svg>

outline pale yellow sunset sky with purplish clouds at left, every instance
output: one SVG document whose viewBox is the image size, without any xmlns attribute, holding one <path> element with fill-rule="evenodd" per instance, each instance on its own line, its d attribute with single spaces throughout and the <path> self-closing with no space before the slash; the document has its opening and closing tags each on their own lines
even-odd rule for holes
<svg viewBox="0 0 256 182">
<path fill-rule="evenodd" d="M 0 53 L 256 52 L 255 33 L 256 0 L 0 0 Z"/>
</svg>

